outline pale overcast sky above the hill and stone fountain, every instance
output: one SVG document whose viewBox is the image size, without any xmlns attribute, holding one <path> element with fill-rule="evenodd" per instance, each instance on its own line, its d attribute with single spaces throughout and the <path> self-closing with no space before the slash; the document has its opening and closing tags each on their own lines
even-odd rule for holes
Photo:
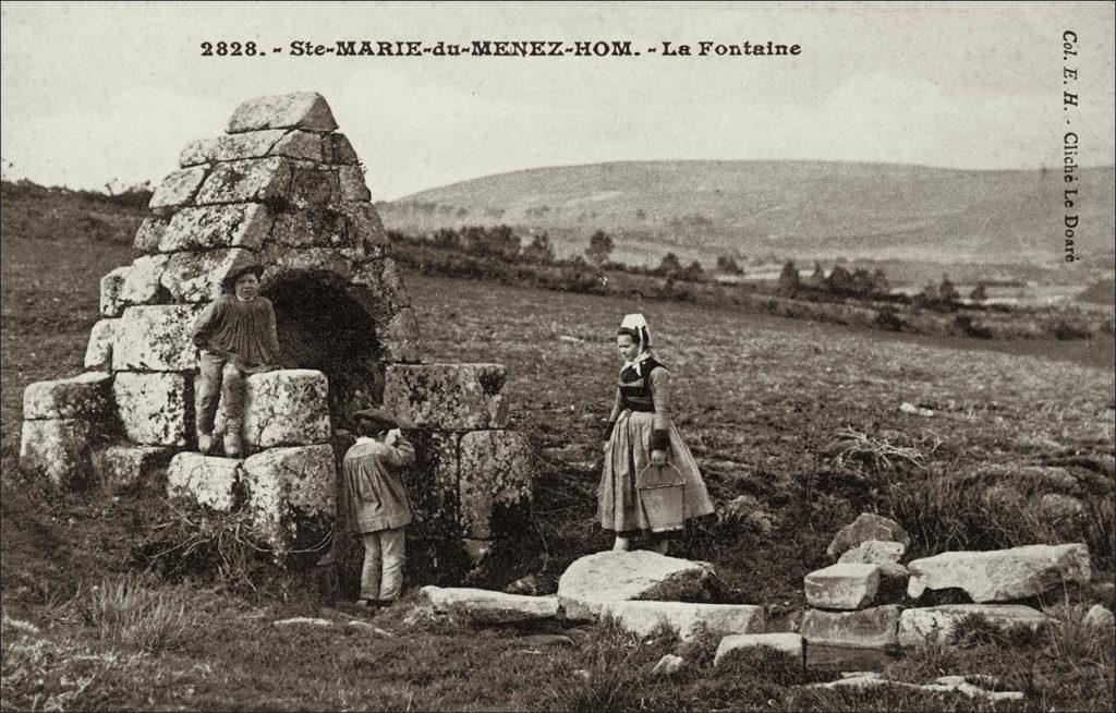
<svg viewBox="0 0 1116 713">
<path fill-rule="evenodd" d="M 2 3 L 4 175 L 158 181 L 243 99 L 320 91 L 375 200 L 492 173 L 655 158 L 961 168 L 1114 154 L 1114 6 Z M 1062 32 L 1081 106 L 1062 110 Z M 631 40 L 629 58 L 202 57 L 203 41 Z M 663 57 L 668 40 L 798 57 Z"/>
</svg>

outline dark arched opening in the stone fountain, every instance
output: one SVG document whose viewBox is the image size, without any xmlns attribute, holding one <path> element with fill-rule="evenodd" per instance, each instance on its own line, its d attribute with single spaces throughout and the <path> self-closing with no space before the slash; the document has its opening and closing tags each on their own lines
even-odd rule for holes
<svg viewBox="0 0 1116 713">
<path fill-rule="evenodd" d="M 384 388 L 378 325 L 349 281 L 324 270 L 290 270 L 267 277 L 261 293 L 276 311 L 285 366 L 317 369 L 329 380 L 334 427 L 349 427 L 353 403 L 379 403 Z"/>
</svg>

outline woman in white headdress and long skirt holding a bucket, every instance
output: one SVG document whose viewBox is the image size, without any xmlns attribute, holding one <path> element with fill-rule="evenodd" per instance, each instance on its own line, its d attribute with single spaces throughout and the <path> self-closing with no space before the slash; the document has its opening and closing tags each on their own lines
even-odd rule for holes
<svg viewBox="0 0 1116 713">
<path fill-rule="evenodd" d="M 712 513 L 713 502 L 690 449 L 671 421 L 671 375 L 651 350 L 651 333 L 643 315 L 624 317 L 616 348 L 624 366 L 608 417 L 597 512 L 600 527 L 616 533 L 613 549 L 623 551 L 628 549 L 633 534 L 654 529 L 639 490 L 639 480 L 648 466 L 673 466 L 681 475 L 681 503 L 675 502 L 681 512 L 673 518 L 676 522 Z M 663 540 L 660 549 L 665 547 Z"/>
</svg>

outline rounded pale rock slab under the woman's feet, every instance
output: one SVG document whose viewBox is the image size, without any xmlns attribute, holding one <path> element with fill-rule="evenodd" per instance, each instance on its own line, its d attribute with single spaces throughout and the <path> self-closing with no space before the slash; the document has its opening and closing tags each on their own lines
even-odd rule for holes
<svg viewBox="0 0 1116 713">
<path fill-rule="evenodd" d="M 598 552 L 570 565 L 558 580 L 558 599 L 568 619 L 595 619 L 607 603 L 628 599 L 708 599 L 716 581 L 709 562 L 657 552 Z"/>
</svg>

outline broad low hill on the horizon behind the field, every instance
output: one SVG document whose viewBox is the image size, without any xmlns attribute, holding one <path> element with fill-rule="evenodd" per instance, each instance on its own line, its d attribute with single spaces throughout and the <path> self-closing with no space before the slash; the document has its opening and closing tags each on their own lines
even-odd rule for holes
<svg viewBox="0 0 1116 713">
<path fill-rule="evenodd" d="M 1075 238 L 1112 262 L 1113 167 L 1079 171 Z M 532 168 L 378 206 L 388 228 L 507 223 L 580 250 L 602 229 L 616 257 L 716 254 L 1051 264 L 1062 251 L 1062 174 L 753 161 L 650 161 Z"/>
</svg>

